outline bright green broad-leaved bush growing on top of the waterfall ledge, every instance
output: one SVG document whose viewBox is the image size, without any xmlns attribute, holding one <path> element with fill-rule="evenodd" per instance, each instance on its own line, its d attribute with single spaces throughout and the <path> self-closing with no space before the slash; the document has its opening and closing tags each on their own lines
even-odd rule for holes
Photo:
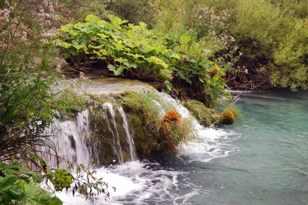
<svg viewBox="0 0 308 205">
<path fill-rule="evenodd" d="M 171 81 L 204 102 L 226 95 L 224 72 L 191 36 L 163 35 L 147 30 L 143 22 L 123 26 L 127 20 L 111 15 L 109 19 L 110 23 L 88 15 L 86 23 L 62 26 L 53 44 L 71 64 L 95 60 L 116 76 L 166 85 Z M 211 75 L 214 70 L 217 73 Z"/>
</svg>

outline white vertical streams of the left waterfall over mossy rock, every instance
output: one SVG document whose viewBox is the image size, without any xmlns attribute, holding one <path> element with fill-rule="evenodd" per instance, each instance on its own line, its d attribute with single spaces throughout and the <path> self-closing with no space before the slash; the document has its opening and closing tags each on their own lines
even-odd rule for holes
<svg viewBox="0 0 308 205">
<path fill-rule="evenodd" d="M 99 109 L 96 107 L 95 109 Z M 111 146 L 119 164 L 124 163 L 123 151 L 127 153 L 126 161 L 138 160 L 133 142 L 133 135 L 129 131 L 129 124 L 125 112 L 122 107 L 114 108 L 111 103 L 104 103 L 102 106 L 102 115 L 111 132 Z M 122 126 L 116 121 L 119 116 Z M 100 162 L 99 154 L 101 152 L 98 142 L 92 138 L 95 133 L 91 131 L 91 122 L 89 119 L 89 111 L 85 110 L 78 113 L 75 118 L 60 122 L 54 121 L 53 126 L 53 142 L 56 144 L 58 154 L 65 160 L 74 164 L 89 164 L 92 166 L 94 160 Z M 120 143 L 119 129 L 124 130 L 126 145 Z M 96 130 L 94 129 L 93 132 Z M 123 144 L 123 143 L 122 143 Z M 51 150 L 48 150 L 51 155 L 54 155 Z M 49 164 L 55 165 L 56 159 L 49 157 Z M 62 162 L 65 166 L 65 162 Z M 98 165 L 97 165 L 98 166 Z"/>
</svg>

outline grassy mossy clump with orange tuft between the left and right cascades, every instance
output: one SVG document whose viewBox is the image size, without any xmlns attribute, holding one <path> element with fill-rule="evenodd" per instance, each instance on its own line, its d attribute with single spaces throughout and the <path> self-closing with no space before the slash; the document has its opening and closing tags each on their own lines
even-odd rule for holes
<svg viewBox="0 0 308 205">
<path fill-rule="evenodd" d="M 181 120 L 172 105 L 160 102 L 163 102 L 163 99 L 156 93 L 139 94 L 129 91 L 123 99 L 123 105 L 128 112 L 136 113 L 140 117 L 142 115 L 142 126 L 150 133 L 136 139 L 136 144 L 147 147 L 148 150 L 143 152 L 152 155 L 174 154 L 194 138 L 194 129 L 189 120 Z M 164 113 L 163 110 L 168 111 Z"/>
</svg>

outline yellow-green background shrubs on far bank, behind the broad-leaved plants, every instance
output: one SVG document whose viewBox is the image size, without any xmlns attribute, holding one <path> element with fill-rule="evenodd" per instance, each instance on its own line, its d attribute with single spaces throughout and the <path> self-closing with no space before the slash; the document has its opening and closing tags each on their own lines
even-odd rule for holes
<svg viewBox="0 0 308 205">
<path fill-rule="evenodd" d="M 227 69 L 229 86 L 296 90 L 307 86 L 306 8 L 306 0 L 65 0 L 54 10 L 62 24 L 112 14 L 163 33 L 185 33 Z"/>
</svg>

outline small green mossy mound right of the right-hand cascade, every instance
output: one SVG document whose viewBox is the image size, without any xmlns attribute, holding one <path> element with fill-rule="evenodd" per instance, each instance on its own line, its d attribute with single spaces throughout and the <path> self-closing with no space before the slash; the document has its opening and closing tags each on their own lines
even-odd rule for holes
<svg viewBox="0 0 308 205">
<path fill-rule="evenodd" d="M 183 105 L 191 112 L 202 125 L 208 127 L 213 124 L 216 120 L 213 118 L 211 111 L 205 107 L 202 102 L 197 100 L 188 100 L 183 103 Z"/>
</svg>

